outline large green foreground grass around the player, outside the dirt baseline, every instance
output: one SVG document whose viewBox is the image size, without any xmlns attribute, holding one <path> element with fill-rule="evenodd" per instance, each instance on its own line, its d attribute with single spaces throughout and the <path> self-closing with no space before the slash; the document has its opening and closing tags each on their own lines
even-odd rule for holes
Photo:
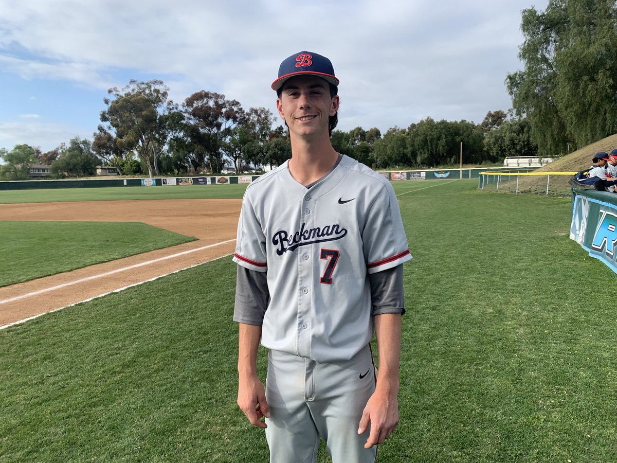
<svg viewBox="0 0 617 463">
<path fill-rule="evenodd" d="M 615 273 L 568 239 L 569 200 L 394 186 L 414 259 L 378 462 L 617 461 Z M 267 461 L 234 283 L 227 257 L 0 330 L 0 461 Z"/>
</svg>

